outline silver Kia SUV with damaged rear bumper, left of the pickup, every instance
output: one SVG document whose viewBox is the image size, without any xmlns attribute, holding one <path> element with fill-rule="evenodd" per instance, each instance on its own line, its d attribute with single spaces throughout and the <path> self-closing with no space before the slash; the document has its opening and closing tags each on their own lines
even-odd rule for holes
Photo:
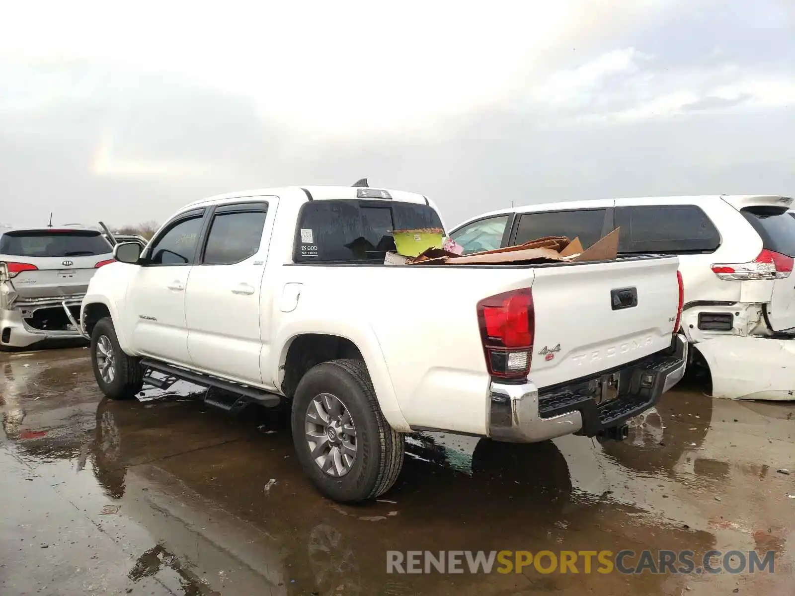
<svg viewBox="0 0 795 596">
<path fill-rule="evenodd" d="M 80 339 L 74 320 L 95 271 L 113 262 L 102 231 L 86 226 L 2 230 L 0 350 Z"/>
</svg>

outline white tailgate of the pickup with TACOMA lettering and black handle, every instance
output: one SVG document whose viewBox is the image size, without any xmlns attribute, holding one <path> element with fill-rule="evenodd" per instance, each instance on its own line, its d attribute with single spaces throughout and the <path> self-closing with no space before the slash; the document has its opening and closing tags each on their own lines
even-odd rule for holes
<svg viewBox="0 0 795 596">
<path fill-rule="evenodd" d="M 671 345 L 677 257 L 535 269 L 530 377 L 539 387 L 611 370 Z"/>
</svg>

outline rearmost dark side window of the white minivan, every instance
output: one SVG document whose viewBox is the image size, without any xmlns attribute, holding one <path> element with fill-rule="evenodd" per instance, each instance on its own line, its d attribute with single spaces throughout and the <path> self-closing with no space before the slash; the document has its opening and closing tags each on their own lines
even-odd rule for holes
<svg viewBox="0 0 795 596">
<path fill-rule="evenodd" d="M 720 234 L 696 205 L 615 208 L 619 253 L 712 253 Z"/>
</svg>

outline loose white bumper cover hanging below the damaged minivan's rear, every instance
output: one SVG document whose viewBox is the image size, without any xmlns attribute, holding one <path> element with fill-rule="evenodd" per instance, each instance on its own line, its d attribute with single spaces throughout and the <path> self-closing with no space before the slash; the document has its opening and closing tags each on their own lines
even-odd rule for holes
<svg viewBox="0 0 795 596">
<path fill-rule="evenodd" d="M 795 401 L 795 339 L 731 335 L 696 344 L 712 373 L 712 396 Z"/>
</svg>

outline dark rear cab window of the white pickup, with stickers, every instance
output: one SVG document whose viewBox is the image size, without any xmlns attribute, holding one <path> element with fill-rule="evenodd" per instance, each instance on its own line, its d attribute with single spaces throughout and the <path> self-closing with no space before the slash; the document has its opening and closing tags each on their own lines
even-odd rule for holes
<svg viewBox="0 0 795 596">
<path fill-rule="evenodd" d="M 383 262 L 395 250 L 393 230 L 442 227 L 428 205 L 396 201 L 320 200 L 304 203 L 294 261 Z"/>
</svg>

